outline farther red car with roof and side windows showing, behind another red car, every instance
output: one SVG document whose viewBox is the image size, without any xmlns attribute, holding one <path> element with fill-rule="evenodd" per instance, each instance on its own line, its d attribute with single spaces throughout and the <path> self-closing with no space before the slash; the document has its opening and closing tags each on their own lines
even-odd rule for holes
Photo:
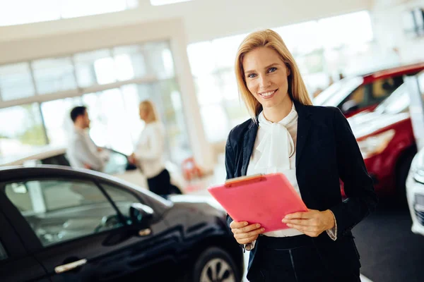
<svg viewBox="0 0 424 282">
<path fill-rule="evenodd" d="M 321 92 L 314 99 L 314 105 L 336 106 L 347 118 L 360 111 L 373 110 L 404 83 L 404 75 L 415 75 L 423 70 L 424 62 L 343 78 Z"/>
</svg>

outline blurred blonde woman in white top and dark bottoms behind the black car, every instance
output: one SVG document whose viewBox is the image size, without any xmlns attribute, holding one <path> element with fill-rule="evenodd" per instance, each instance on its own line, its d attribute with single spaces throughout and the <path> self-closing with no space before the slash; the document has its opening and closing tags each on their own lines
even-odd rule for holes
<svg viewBox="0 0 424 282">
<path fill-rule="evenodd" d="M 146 125 L 129 160 L 140 166 L 147 178 L 149 190 L 158 195 L 168 195 L 172 188 L 170 173 L 165 168 L 164 161 L 165 127 L 158 119 L 153 102 L 141 102 L 139 114 Z"/>
</svg>

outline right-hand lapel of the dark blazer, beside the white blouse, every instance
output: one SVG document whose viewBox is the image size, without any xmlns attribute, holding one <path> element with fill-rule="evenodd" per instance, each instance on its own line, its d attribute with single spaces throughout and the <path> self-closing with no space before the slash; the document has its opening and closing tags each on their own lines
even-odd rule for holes
<svg viewBox="0 0 424 282">
<path fill-rule="evenodd" d="M 295 103 L 296 111 L 298 111 L 298 137 L 296 141 L 296 169 L 298 169 L 299 160 L 307 141 L 307 135 L 310 132 L 311 121 L 310 112 L 308 111 L 307 106 L 304 106 L 295 100 L 293 100 L 293 102 Z"/>
</svg>

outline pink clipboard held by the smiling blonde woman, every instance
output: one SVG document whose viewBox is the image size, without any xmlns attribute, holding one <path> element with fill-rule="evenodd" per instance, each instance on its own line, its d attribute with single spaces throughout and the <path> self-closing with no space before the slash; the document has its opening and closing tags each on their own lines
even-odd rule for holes
<svg viewBox="0 0 424 282">
<path fill-rule="evenodd" d="M 232 178 L 208 191 L 233 220 L 260 223 L 264 232 L 287 229 L 281 221 L 286 214 L 307 212 L 283 173 Z"/>
</svg>

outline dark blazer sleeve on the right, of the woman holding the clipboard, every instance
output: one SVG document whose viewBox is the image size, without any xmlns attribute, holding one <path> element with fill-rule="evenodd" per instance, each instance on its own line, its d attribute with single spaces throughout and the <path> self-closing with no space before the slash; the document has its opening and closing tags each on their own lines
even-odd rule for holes
<svg viewBox="0 0 424 282">
<path fill-rule="evenodd" d="M 365 216 L 374 212 L 378 200 L 358 142 L 351 126 L 338 108 L 334 109 L 333 124 L 338 173 L 347 196 L 346 200 L 331 208 L 337 221 L 337 238 L 340 238 Z"/>
</svg>

